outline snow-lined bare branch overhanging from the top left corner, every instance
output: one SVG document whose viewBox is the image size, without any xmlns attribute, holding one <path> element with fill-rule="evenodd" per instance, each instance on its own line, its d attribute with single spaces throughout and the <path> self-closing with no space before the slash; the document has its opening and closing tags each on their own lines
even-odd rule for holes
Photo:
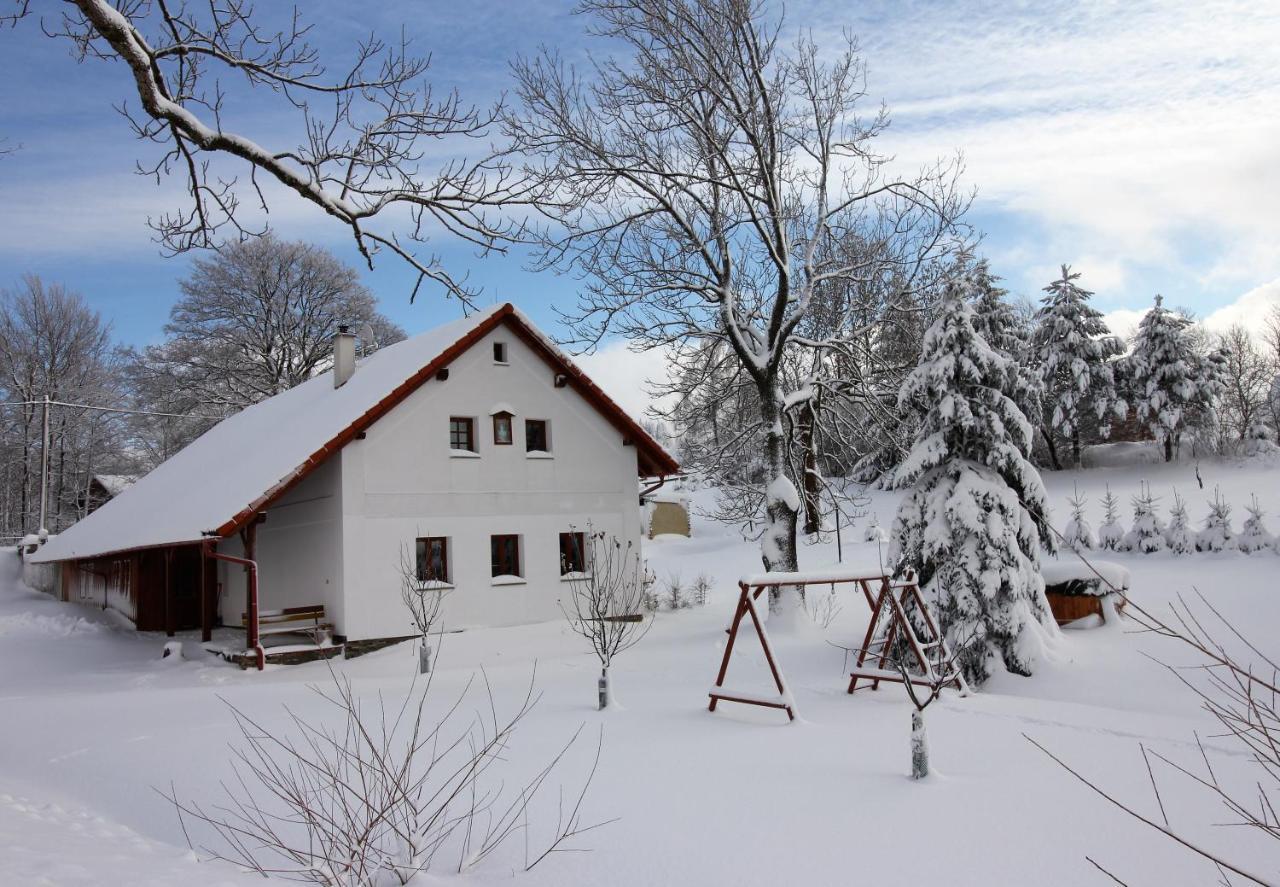
<svg viewBox="0 0 1280 887">
<path fill-rule="evenodd" d="M 495 218 L 527 193 L 499 151 L 461 156 L 480 143 L 498 109 L 477 109 L 456 92 L 433 93 L 429 59 L 401 35 L 361 41 L 349 64 L 330 76 L 300 10 L 250 0 L 150 3 L 72 0 L 41 20 L 69 41 L 79 60 L 128 70 L 136 104 L 119 104 L 134 134 L 161 147 L 138 172 L 184 180 L 189 202 L 152 227 L 172 252 L 212 247 L 227 233 L 265 230 L 266 183 L 319 207 L 344 225 L 370 266 L 387 250 L 422 280 L 470 303 L 466 279 L 417 248 L 443 229 L 481 251 L 502 250 L 518 228 Z M 4 18 L 29 15 L 19 0 Z M 292 120 L 292 143 L 229 127 L 247 97 L 271 100 L 273 120 Z M 434 168 L 429 155 L 445 159 Z M 237 172 L 237 169 L 239 172 Z M 247 205 L 247 209 L 246 209 Z M 412 298 L 412 297 L 411 297 Z"/>
</svg>

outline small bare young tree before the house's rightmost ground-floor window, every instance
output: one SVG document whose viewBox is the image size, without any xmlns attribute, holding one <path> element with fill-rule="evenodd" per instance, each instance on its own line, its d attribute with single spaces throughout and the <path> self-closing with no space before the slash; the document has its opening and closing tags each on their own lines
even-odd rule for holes
<svg viewBox="0 0 1280 887">
<path fill-rule="evenodd" d="M 631 541 L 622 544 L 614 536 L 588 531 L 586 557 L 588 571 L 570 580 L 568 603 L 561 600 L 561 609 L 570 627 L 586 639 L 600 660 L 603 710 L 613 705 L 609 683 L 613 659 L 639 644 L 653 627 L 653 611 L 645 605 L 652 580 Z"/>
</svg>

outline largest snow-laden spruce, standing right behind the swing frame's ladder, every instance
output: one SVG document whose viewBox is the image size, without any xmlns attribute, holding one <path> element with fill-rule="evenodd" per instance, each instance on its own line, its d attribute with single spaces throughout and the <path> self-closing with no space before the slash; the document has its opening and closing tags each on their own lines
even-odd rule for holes
<svg viewBox="0 0 1280 887">
<path fill-rule="evenodd" d="M 902 383 L 899 408 L 920 417 L 904 463 L 911 489 L 893 521 L 890 562 L 915 572 L 960 668 L 974 683 L 996 660 L 1030 675 L 1056 632 L 1042 545 L 1052 550 L 1044 486 L 1027 459 L 1032 428 L 1005 393 L 1012 371 L 974 330 L 961 283 L 947 287 L 924 337 L 920 362 Z"/>
</svg>

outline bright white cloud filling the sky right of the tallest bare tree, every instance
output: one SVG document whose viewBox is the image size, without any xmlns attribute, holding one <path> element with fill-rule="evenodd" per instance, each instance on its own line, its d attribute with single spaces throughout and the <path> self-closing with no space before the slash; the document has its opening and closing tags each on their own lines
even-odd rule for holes
<svg viewBox="0 0 1280 887">
<path fill-rule="evenodd" d="M 1121 303 L 1138 307 L 1152 294 L 1142 280 L 1166 269 L 1194 284 L 1179 298 L 1203 311 L 1280 274 L 1276 4 L 872 3 L 851 22 L 831 13 L 865 37 L 870 91 L 890 102 L 886 145 L 900 161 L 961 150 L 978 209 L 1011 214 L 1002 220 L 1015 229 L 1000 237 L 1037 253 L 1006 270 L 1015 283 L 1034 285 L 1039 266 L 1068 260 L 1100 294 L 1132 284 Z M 1030 224 L 1018 230 L 1018 220 Z"/>
</svg>

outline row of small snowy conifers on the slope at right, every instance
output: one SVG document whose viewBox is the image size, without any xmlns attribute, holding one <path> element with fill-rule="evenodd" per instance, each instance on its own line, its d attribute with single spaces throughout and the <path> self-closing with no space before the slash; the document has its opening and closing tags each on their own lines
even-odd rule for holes
<svg viewBox="0 0 1280 887">
<path fill-rule="evenodd" d="M 1253 497 L 1253 503 L 1245 509 L 1249 516 L 1236 534 L 1231 529 L 1231 506 L 1222 499 L 1216 486 L 1213 499 L 1208 503 L 1208 515 L 1204 516 L 1198 531 L 1190 527 L 1187 500 L 1176 490 L 1174 506 L 1169 511 L 1170 520 L 1165 525 L 1156 511 L 1160 499 L 1151 494 L 1151 488 L 1146 483 L 1142 484 L 1140 493 L 1133 497 L 1133 527 L 1128 531 L 1120 525 L 1120 500 L 1111 493 L 1110 486 L 1102 497 L 1103 521 L 1096 535 L 1084 516 L 1088 500 L 1076 490 L 1069 502 L 1071 520 L 1062 536 L 1065 543 L 1076 550 L 1101 548 L 1143 554 L 1166 550 L 1175 554 L 1240 550 L 1245 554 L 1256 552 L 1280 554 L 1280 538 L 1267 531 L 1263 523 L 1265 512 L 1258 506 L 1258 498 Z"/>
</svg>

